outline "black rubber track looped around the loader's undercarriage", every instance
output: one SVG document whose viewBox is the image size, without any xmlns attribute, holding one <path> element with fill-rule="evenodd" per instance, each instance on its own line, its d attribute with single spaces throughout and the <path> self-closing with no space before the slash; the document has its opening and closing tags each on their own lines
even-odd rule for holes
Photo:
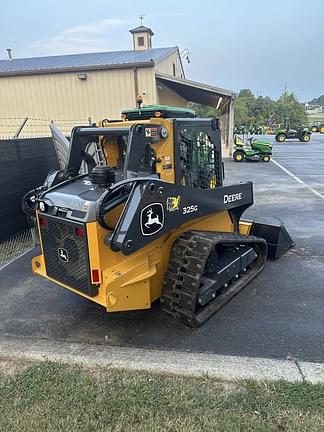
<svg viewBox="0 0 324 432">
<path fill-rule="evenodd" d="M 206 306 L 197 309 L 200 279 L 206 261 L 219 244 L 248 244 L 258 257 L 236 282 L 229 284 L 227 289 L 223 288 Z M 160 298 L 162 310 L 191 327 L 202 325 L 262 271 L 266 256 L 266 241 L 259 237 L 209 231 L 182 234 L 171 251 Z"/>
</svg>

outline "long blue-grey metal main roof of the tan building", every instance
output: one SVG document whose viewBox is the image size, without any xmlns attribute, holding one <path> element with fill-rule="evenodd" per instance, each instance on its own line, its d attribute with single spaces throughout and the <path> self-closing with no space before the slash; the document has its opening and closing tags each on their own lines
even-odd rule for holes
<svg viewBox="0 0 324 432">
<path fill-rule="evenodd" d="M 0 60 L 0 76 L 154 66 L 177 47 Z"/>
</svg>

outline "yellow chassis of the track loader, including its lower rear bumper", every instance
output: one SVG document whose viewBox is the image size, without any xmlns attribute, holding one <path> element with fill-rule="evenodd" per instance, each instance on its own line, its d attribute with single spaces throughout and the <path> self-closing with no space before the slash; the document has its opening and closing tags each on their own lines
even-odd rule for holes
<svg viewBox="0 0 324 432">
<path fill-rule="evenodd" d="M 240 234 L 249 234 L 250 228 L 251 223 L 240 222 Z M 183 232 L 193 230 L 233 232 L 234 228 L 228 212 L 222 211 L 182 225 L 134 254 L 125 256 L 104 244 L 108 231 L 92 222 L 87 224 L 87 237 L 90 271 L 99 270 L 96 296 L 90 297 L 48 277 L 43 254 L 33 258 L 33 273 L 104 306 L 107 312 L 148 309 L 161 295 L 173 243 Z"/>
</svg>

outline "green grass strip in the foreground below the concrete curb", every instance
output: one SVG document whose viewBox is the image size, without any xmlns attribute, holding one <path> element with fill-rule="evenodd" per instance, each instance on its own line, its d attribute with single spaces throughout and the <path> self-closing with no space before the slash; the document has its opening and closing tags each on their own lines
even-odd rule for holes
<svg viewBox="0 0 324 432">
<path fill-rule="evenodd" d="M 43 362 L 0 369 L 0 431 L 323 431 L 324 385 Z"/>
</svg>

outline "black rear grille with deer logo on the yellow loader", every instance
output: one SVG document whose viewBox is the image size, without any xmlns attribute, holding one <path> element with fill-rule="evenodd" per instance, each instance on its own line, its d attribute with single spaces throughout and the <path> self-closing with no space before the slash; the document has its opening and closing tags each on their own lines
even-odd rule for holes
<svg viewBox="0 0 324 432">
<path fill-rule="evenodd" d="M 95 295 L 97 290 L 90 280 L 85 225 L 44 214 L 40 214 L 39 219 L 47 276 L 85 294 Z"/>
</svg>

